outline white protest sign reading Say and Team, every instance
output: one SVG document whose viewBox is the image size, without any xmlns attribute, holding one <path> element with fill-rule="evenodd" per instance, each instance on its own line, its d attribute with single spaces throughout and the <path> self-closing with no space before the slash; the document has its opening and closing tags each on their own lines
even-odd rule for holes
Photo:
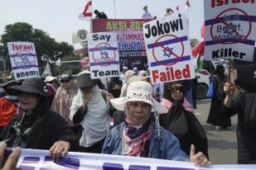
<svg viewBox="0 0 256 170">
<path fill-rule="evenodd" d="M 119 54 L 117 34 L 98 32 L 88 35 L 91 78 L 118 77 Z"/>
</svg>

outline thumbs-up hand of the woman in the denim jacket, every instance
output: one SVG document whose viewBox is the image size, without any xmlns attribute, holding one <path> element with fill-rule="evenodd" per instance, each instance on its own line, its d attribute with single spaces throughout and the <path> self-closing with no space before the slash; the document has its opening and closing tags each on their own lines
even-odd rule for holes
<svg viewBox="0 0 256 170">
<path fill-rule="evenodd" d="M 208 158 L 206 158 L 205 154 L 201 152 L 195 153 L 195 150 L 195 145 L 191 144 L 191 162 L 195 163 L 195 165 L 198 167 L 209 167 L 210 161 L 208 160 Z"/>
</svg>

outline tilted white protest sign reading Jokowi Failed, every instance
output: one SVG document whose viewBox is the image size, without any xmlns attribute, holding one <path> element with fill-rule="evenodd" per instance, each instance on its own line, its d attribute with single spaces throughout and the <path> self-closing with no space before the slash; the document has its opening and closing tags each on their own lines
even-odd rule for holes
<svg viewBox="0 0 256 170">
<path fill-rule="evenodd" d="M 152 83 L 195 78 L 186 15 L 149 21 L 143 35 Z"/>
</svg>

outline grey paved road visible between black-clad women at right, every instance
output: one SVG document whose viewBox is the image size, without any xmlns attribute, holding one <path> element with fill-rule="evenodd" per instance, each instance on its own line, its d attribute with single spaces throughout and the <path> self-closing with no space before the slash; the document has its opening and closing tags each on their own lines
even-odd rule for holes
<svg viewBox="0 0 256 170">
<path fill-rule="evenodd" d="M 206 124 L 209 110 L 209 99 L 197 101 L 196 117 L 205 128 L 209 144 L 210 161 L 212 164 L 236 164 L 237 142 L 235 129 L 237 117 L 232 117 L 232 125 L 229 130 L 215 130 L 214 126 Z"/>
</svg>

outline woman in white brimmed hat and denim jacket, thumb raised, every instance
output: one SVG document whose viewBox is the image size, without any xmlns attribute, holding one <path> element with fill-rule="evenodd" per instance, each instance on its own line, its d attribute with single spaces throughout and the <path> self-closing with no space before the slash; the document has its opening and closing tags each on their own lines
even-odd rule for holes
<svg viewBox="0 0 256 170">
<path fill-rule="evenodd" d="M 144 81 L 128 85 L 127 96 L 110 100 L 111 104 L 126 114 L 125 122 L 114 127 L 107 135 L 102 153 L 145 158 L 162 158 L 189 161 L 200 166 L 210 162 L 203 153 L 195 153 L 191 145 L 190 158 L 184 153 L 178 139 L 164 130 L 152 118 L 152 111 L 164 112 L 166 108 L 152 97 L 152 85 Z"/>
</svg>

